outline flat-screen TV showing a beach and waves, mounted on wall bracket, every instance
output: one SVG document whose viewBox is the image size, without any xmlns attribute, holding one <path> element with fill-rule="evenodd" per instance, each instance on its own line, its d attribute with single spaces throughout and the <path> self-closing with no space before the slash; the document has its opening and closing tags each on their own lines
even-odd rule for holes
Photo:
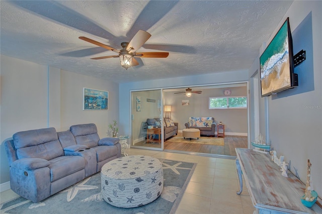
<svg viewBox="0 0 322 214">
<path fill-rule="evenodd" d="M 260 57 L 262 97 L 298 85 L 294 73 L 293 42 L 289 18 Z"/>
</svg>

